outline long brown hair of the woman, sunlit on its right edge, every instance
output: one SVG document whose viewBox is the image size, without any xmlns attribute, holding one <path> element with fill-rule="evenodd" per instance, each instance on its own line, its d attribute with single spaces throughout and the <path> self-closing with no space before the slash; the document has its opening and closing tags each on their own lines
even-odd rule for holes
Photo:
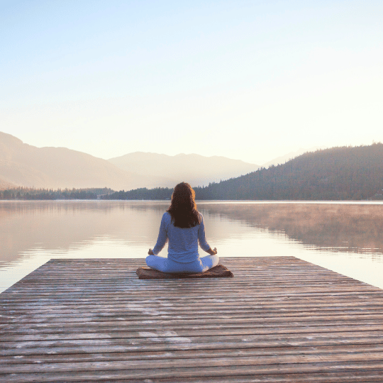
<svg viewBox="0 0 383 383">
<path fill-rule="evenodd" d="M 194 201 L 195 191 L 187 182 L 181 182 L 174 187 L 172 204 L 167 212 L 172 216 L 172 222 L 177 228 L 194 228 L 200 223 L 199 212 Z"/>
</svg>

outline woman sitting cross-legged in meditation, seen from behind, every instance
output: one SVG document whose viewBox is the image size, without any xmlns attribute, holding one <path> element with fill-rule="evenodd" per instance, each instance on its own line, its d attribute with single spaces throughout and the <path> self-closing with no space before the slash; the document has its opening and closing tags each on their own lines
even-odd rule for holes
<svg viewBox="0 0 383 383">
<path fill-rule="evenodd" d="M 196 209 L 195 192 L 185 182 L 177 184 L 170 208 L 164 213 L 155 248 L 149 249 L 146 264 L 162 272 L 205 272 L 218 265 L 217 249 L 206 242 L 204 217 Z M 169 240 L 167 258 L 157 254 Z M 209 253 L 199 257 L 198 243 Z"/>
</svg>

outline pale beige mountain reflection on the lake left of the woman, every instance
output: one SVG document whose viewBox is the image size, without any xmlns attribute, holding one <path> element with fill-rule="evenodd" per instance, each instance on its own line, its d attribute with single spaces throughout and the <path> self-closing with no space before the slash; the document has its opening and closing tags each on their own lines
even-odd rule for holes
<svg viewBox="0 0 383 383">
<path fill-rule="evenodd" d="M 103 201 L 0 202 L 0 260 L 11 262 L 38 248 L 68 252 L 103 236 L 123 243 L 148 242 L 158 230 L 152 219 L 160 217 L 167 206 Z M 145 214 L 148 210 L 150 215 Z"/>
</svg>

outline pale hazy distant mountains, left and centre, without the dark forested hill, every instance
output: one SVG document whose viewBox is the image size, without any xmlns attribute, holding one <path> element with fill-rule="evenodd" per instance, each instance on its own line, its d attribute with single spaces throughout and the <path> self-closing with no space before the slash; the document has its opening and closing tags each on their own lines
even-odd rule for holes
<svg viewBox="0 0 383 383">
<path fill-rule="evenodd" d="M 0 189 L 174 187 L 181 181 L 207 185 L 259 166 L 226 157 L 135 152 L 104 160 L 68 148 L 36 148 L 0 132 Z"/>
</svg>

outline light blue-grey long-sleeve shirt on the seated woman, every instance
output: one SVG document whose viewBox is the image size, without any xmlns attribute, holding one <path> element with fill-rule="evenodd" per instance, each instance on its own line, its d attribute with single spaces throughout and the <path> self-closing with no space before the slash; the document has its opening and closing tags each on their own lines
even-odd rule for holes
<svg viewBox="0 0 383 383">
<path fill-rule="evenodd" d="M 160 233 L 153 252 L 157 255 L 169 240 L 167 257 L 176 262 L 193 262 L 198 260 L 198 243 L 202 250 L 209 250 L 210 246 L 205 238 L 204 217 L 199 213 L 199 225 L 194 228 L 177 228 L 172 223 L 172 216 L 167 211 L 162 216 Z"/>
</svg>

